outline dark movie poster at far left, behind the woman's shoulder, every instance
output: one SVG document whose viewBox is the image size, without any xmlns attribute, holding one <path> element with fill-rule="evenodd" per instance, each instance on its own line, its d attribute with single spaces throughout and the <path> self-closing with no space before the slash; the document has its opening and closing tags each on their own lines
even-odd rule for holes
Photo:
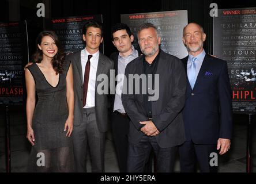
<svg viewBox="0 0 256 184">
<path fill-rule="evenodd" d="M 24 64 L 28 62 L 25 21 L 0 23 L 0 104 L 21 105 Z"/>
</svg>

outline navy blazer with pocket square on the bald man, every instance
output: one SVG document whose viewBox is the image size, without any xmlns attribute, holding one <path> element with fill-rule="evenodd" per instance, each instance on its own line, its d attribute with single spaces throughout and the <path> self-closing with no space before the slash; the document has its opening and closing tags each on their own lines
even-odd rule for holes
<svg viewBox="0 0 256 184">
<path fill-rule="evenodd" d="M 188 56 L 182 59 L 187 74 Z M 187 79 L 183 110 L 186 139 L 195 144 L 217 144 L 231 139 L 232 101 L 227 62 L 205 55 L 194 89 Z"/>
</svg>

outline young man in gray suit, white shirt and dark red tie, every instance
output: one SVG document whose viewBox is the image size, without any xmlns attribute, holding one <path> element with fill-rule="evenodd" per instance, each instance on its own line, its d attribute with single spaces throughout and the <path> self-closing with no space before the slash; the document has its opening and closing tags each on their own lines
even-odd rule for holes
<svg viewBox="0 0 256 184">
<path fill-rule="evenodd" d="M 97 76 L 106 74 L 114 64 L 99 52 L 103 29 L 98 22 L 86 22 L 82 28 L 86 47 L 69 55 L 74 75 L 74 160 L 77 172 L 86 172 L 86 152 L 90 152 L 92 172 L 104 172 L 104 148 L 108 120 L 107 94 L 97 93 Z"/>
</svg>

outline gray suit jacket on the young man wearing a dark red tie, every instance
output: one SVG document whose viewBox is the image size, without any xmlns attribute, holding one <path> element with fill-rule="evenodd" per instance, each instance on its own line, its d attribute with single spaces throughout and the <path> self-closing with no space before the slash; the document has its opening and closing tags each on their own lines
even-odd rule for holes
<svg viewBox="0 0 256 184">
<path fill-rule="evenodd" d="M 82 122 L 82 64 L 81 64 L 81 51 L 74 52 L 66 57 L 73 65 L 73 78 L 74 78 L 74 126 L 79 126 Z M 110 79 L 110 70 L 114 68 L 114 63 L 107 56 L 100 53 L 99 63 L 97 67 L 96 79 L 99 74 L 106 74 Z M 100 132 L 107 132 L 108 122 L 108 98 L 107 94 L 98 94 L 97 86 L 99 81 L 96 80 L 95 84 L 95 114 L 97 127 Z"/>
</svg>

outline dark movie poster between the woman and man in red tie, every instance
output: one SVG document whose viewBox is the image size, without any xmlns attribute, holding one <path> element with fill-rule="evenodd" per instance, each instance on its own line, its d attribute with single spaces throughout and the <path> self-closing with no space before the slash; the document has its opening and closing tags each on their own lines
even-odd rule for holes
<svg viewBox="0 0 256 184">
<path fill-rule="evenodd" d="M 86 21 L 102 21 L 102 15 L 78 16 L 65 18 L 52 18 L 46 20 L 46 29 L 54 30 L 57 33 L 66 55 L 85 48 L 82 40 L 82 26 Z M 100 51 L 104 52 L 103 44 Z"/>
</svg>

